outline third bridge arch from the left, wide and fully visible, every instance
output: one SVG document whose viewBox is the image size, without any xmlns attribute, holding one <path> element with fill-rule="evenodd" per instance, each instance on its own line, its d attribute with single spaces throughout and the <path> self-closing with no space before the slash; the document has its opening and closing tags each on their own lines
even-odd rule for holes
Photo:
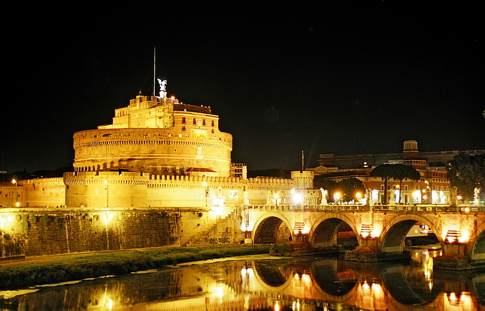
<svg viewBox="0 0 485 311">
<path fill-rule="evenodd" d="M 432 232 L 441 232 L 441 229 L 427 218 L 413 214 L 399 215 L 390 219 L 383 228 L 381 235 L 377 239 L 378 250 L 382 252 L 404 251 L 406 235 L 417 222 L 427 225 Z M 436 234 L 436 237 L 443 246 L 444 241 L 441 234 Z"/>
</svg>

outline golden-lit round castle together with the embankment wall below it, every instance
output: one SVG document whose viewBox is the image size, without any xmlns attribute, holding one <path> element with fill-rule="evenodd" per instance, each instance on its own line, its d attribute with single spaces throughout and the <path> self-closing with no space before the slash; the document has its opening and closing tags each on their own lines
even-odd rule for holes
<svg viewBox="0 0 485 311">
<path fill-rule="evenodd" d="M 295 191 L 320 203 L 311 171 L 247 178 L 210 107 L 169 98 L 160 82 L 160 96 L 138 94 L 113 124 L 74 134 L 74 171 L 8 186 L 0 257 L 240 243 L 250 229 L 239 206 L 292 204 Z"/>
</svg>

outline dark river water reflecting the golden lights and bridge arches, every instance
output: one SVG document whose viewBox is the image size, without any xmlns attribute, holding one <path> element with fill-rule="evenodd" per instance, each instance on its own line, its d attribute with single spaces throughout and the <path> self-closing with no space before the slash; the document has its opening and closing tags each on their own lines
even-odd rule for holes
<svg viewBox="0 0 485 311">
<path fill-rule="evenodd" d="M 248 256 L 180 265 L 0 292 L 0 310 L 485 310 L 485 271 L 433 271 L 433 252 L 404 264 Z"/>
</svg>

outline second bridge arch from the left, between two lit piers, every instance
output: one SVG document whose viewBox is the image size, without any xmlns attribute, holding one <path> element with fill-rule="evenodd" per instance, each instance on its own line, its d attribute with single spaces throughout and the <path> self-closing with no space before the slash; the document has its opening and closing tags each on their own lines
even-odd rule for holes
<svg viewBox="0 0 485 311">
<path fill-rule="evenodd" d="M 330 247 L 337 244 L 337 230 L 343 223 L 347 223 L 358 236 L 354 221 L 337 213 L 324 214 L 318 218 L 310 228 L 308 242 L 313 247 Z"/>
</svg>

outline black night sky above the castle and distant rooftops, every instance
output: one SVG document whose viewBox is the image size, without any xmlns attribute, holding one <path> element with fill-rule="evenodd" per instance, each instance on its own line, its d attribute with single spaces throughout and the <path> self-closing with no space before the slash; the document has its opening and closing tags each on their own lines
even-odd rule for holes
<svg viewBox="0 0 485 311">
<path fill-rule="evenodd" d="M 16 15 L 4 38 L 6 171 L 72 164 L 74 132 L 152 93 L 154 47 L 168 95 L 210 105 L 250 170 L 299 169 L 301 150 L 307 166 L 321 153 L 400 152 L 404 140 L 485 149 L 476 1 L 131 3 Z"/>
</svg>

